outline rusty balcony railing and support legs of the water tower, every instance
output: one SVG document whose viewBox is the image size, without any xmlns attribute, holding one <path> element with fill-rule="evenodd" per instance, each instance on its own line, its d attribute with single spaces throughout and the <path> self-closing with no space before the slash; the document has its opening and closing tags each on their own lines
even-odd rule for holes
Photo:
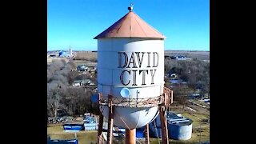
<svg viewBox="0 0 256 144">
<path fill-rule="evenodd" d="M 171 103 L 173 103 L 173 90 L 170 90 L 164 87 L 164 93 L 155 98 L 115 98 L 112 95 L 108 95 L 108 97 L 103 97 L 102 94 L 98 94 L 98 104 L 102 106 L 109 107 L 109 117 L 108 117 L 108 132 L 107 132 L 107 143 L 112 143 L 112 129 L 113 127 L 113 118 L 114 118 L 114 107 L 115 106 L 124 106 L 124 107 L 150 107 L 150 106 L 159 106 L 159 114 L 161 119 L 162 126 L 162 143 L 168 144 L 168 129 L 167 129 L 167 119 L 164 115 L 166 108 L 170 107 Z M 99 127 L 100 128 L 100 127 Z M 149 132 L 148 125 L 146 126 L 146 133 Z M 131 135 L 134 135 L 133 130 L 128 130 L 126 133 L 126 142 L 135 142 Z M 129 138 L 127 138 L 129 137 Z M 101 133 L 98 133 L 98 138 L 101 138 Z M 148 141 L 146 143 L 150 143 L 149 134 L 146 134 L 146 139 Z M 98 139 L 98 142 L 100 140 Z"/>
</svg>

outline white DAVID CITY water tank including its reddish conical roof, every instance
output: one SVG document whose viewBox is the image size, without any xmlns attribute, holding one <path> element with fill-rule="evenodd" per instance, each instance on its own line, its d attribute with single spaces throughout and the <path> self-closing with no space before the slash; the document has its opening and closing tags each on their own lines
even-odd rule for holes
<svg viewBox="0 0 256 144">
<path fill-rule="evenodd" d="M 139 128 L 158 116 L 158 106 L 150 102 L 156 102 L 163 93 L 164 38 L 132 10 L 95 37 L 98 93 L 105 99 L 109 94 L 126 98 L 126 102 L 114 106 L 114 126 Z M 100 109 L 108 118 L 108 107 Z"/>
</svg>

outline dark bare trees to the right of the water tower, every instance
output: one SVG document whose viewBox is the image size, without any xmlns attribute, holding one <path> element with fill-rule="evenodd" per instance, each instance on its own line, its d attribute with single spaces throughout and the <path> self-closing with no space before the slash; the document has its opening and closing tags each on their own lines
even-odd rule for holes
<svg viewBox="0 0 256 144">
<path fill-rule="evenodd" d="M 184 102 L 187 94 L 200 90 L 200 94 L 210 97 L 210 63 L 194 58 L 192 60 L 174 60 L 165 59 L 165 74 L 169 78 L 165 78 L 166 86 L 171 86 L 170 74 L 176 74 L 177 79 L 186 82 L 186 85 L 178 85 L 172 87 L 174 90 L 174 100 Z"/>
</svg>

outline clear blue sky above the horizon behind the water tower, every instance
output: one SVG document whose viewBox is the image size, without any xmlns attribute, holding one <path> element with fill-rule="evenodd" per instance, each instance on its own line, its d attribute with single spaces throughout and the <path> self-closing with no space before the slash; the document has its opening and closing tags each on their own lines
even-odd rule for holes
<svg viewBox="0 0 256 144">
<path fill-rule="evenodd" d="M 47 50 L 97 50 L 93 39 L 128 13 L 166 36 L 165 50 L 210 50 L 210 0 L 47 0 Z"/>
</svg>

